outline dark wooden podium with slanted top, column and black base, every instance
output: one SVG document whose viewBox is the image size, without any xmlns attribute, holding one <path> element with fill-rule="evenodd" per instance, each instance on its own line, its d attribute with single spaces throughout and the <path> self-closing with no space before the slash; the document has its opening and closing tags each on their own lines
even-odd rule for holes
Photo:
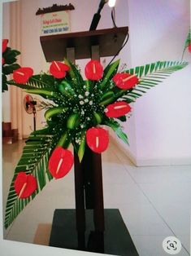
<svg viewBox="0 0 191 256">
<path fill-rule="evenodd" d="M 123 46 L 128 27 L 41 37 L 46 61 L 99 60 Z M 102 157 L 85 148 L 80 163 L 75 156 L 76 210 L 55 210 L 50 245 L 115 255 L 138 255 L 117 209 L 103 206 Z"/>
</svg>

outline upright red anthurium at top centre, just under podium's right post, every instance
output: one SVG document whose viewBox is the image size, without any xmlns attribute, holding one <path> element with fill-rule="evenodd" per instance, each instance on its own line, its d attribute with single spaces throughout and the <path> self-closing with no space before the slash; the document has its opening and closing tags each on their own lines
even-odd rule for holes
<svg viewBox="0 0 191 256">
<path fill-rule="evenodd" d="M 98 60 L 90 60 L 85 66 L 85 77 L 89 80 L 99 80 L 102 78 L 103 68 Z"/>
</svg>

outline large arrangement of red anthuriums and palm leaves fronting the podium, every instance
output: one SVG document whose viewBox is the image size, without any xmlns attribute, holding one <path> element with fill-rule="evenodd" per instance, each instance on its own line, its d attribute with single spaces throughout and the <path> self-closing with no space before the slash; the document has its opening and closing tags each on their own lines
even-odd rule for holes
<svg viewBox="0 0 191 256">
<path fill-rule="evenodd" d="M 98 60 L 85 66 L 85 79 L 69 60 L 53 61 L 49 73 L 33 75 L 33 68 L 13 70 L 10 86 L 48 99 L 46 127 L 34 131 L 26 141 L 15 168 L 7 198 L 5 227 L 9 227 L 37 193 L 51 179 L 63 178 L 72 169 L 72 144 L 82 161 L 85 148 L 102 153 L 109 144 L 106 126 L 128 143 L 122 122 L 130 117 L 131 106 L 141 95 L 171 73 L 187 65 L 180 61 L 158 61 L 119 71 L 119 60 L 104 69 Z"/>
</svg>

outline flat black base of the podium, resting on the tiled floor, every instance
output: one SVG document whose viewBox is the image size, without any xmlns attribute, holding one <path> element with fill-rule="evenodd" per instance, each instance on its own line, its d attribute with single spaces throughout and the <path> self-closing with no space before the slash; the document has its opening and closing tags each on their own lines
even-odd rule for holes
<svg viewBox="0 0 191 256">
<path fill-rule="evenodd" d="M 132 242 L 119 210 L 105 209 L 104 215 L 105 232 L 103 234 L 102 232 L 94 231 L 93 210 L 85 210 L 86 245 L 85 249 L 82 250 L 120 256 L 137 256 L 137 249 Z M 54 211 L 49 245 L 66 249 L 80 249 L 76 232 L 76 210 L 56 209 Z"/>
</svg>

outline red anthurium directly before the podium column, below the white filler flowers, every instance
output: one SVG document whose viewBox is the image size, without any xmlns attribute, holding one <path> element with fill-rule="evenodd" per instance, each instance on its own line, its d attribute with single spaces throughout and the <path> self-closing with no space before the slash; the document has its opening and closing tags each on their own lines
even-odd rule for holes
<svg viewBox="0 0 191 256">
<path fill-rule="evenodd" d="M 93 152 L 104 152 L 109 143 L 108 131 L 100 127 L 90 128 L 86 132 L 86 143 Z"/>
</svg>

